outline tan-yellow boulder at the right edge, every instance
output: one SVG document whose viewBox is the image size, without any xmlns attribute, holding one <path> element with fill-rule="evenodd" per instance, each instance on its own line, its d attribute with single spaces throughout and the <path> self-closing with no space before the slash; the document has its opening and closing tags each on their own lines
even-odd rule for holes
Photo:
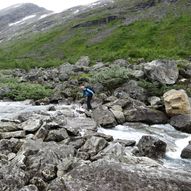
<svg viewBox="0 0 191 191">
<path fill-rule="evenodd" d="M 166 113 L 170 116 L 190 114 L 189 98 L 184 90 L 169 90 L 164 95 Z"/>
</svg>

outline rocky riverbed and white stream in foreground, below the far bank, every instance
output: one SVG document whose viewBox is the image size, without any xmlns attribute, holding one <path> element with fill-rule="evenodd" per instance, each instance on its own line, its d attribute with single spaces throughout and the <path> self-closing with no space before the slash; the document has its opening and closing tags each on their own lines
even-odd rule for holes
<svg viewBox="0 0 191 191">
<path fill-rule="evenodd" d="M 169 124 L 104 129 L 77 104 L 0 109 L 0 190 L 191 190 L 177 145 L 190 135 Z"/>
</svg>

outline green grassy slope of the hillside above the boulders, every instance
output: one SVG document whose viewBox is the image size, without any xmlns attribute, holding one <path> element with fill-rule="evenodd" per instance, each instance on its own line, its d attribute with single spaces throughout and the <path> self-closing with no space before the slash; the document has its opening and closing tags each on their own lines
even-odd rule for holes
<svg viewBox="0 0 191 191">
<path fill-rule="evenodd" d="M 191 16 L 186 12 L 177 16 L 168 14 L 158 21 L 144 19 L 128 26 L 118 20 L 102 26 L 71 29 L 74 22 L 93 20 L 95 15 L 0 47 L 0 68 L 56 66 L 66 60 L 75 62 L 81 55 L 89 55 L 93 61 L 128 57 L 179 59 L 190 56 Z M 113 30 L 107 37 L 91 42 L 109 29 Z"/>
</svg>

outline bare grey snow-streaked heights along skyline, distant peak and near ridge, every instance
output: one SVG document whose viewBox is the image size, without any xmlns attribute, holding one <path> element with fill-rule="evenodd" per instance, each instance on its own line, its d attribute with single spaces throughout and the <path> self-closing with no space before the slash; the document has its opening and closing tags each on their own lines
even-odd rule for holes
<svg viewBox="0 0 191 191">
<path fill-rule="evenodd" d="M 10 40 L 30 32 L 48 30 L 65 23 L 66 20 L 76 15 L 106 6 L 108 2 L 112 1 L 97 1 L 88 6 L 76 6 L 62 13 L 54 13 L 32 3 L 10 6 L 0 10 L 0 40 Z"/>
</svg>

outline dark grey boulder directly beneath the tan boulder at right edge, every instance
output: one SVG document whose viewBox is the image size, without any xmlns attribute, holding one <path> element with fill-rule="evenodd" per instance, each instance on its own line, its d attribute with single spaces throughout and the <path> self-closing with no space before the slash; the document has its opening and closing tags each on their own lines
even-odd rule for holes
<svg viewBox="0 0 191 191">
<path fill-rule="evenodd" d="M 170 119 L 170 124 L 179 131 L 191 133 L 191 115 L 176 115 Z"/>
</svg>

